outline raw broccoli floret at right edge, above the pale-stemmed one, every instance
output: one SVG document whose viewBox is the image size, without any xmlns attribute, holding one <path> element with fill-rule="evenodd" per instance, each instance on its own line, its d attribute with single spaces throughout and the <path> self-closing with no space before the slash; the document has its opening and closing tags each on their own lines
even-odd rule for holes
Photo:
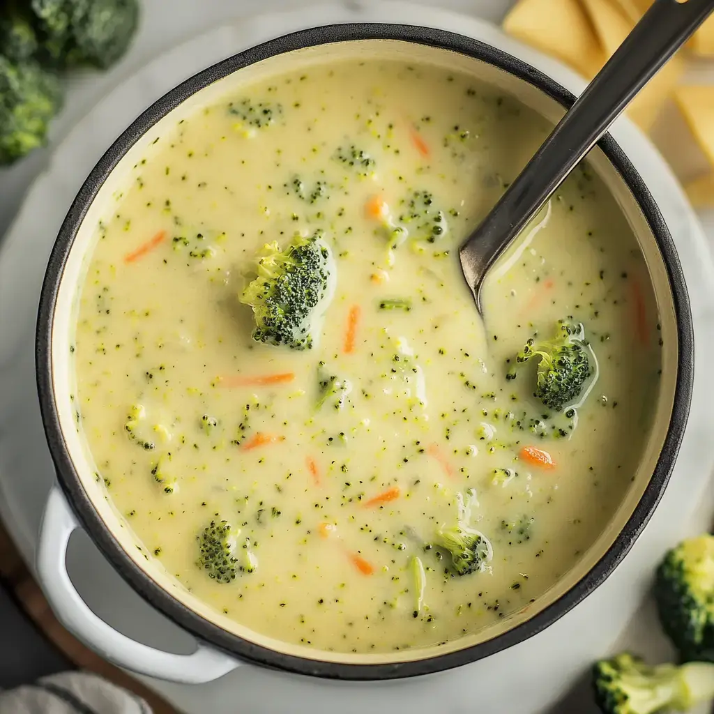
<svg viewBox="0 0 714 714">
<path fill-rule="evenodd" d="M 714 662 L 714 535 L 688 538 L 665 555 L 655 600 L 683 659 Z"/>
</svg>

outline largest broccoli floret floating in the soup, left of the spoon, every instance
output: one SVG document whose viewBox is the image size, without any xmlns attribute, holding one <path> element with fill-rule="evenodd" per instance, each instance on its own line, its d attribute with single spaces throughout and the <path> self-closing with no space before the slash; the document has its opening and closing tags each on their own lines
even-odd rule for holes
<svg viewBox="0 0 714 714">
<path fill-rule="evenodd" d="M 335 281 L 333 256 L 316 233 L 295 236 L 283 249 L 278 243 L 263 246 L 258 256 L 258 277 L 241 295 L 253 308 L 253 340 L 296 350 L 311 349 L 332 298 Z"/>
</svg>

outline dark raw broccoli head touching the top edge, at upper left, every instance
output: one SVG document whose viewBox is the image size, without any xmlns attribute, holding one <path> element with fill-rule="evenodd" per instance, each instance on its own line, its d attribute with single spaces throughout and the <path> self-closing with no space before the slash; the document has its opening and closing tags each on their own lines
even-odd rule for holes
<svg viewBox="0 0 714 714">
<path fill-rule="evenodd" d="M 31 7 L 44 52 L 59 66 L 110 67 L 139 24 L 138 0 L 32 0 Z"/>
</svg>

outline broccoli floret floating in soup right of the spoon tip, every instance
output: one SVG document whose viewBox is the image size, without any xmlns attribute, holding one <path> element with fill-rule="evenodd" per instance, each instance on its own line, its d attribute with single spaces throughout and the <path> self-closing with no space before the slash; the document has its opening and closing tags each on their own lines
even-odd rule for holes
<svg viewBox="0 0 714 714">
<path fill-rule="evenodd" d="M 533 396 L 548 408 L 563 411 L 578 399 L 593 373 L 589 350 L 583 326 L 560 320 L 558 336 L 537 344 L 534 338 L 529 339 L 523 351 L 516 356 L 516 364 L 521 365 L 531 358 L 540 358 Z M 516 368 L 508 371 L 506 378 L 515 379 Z"/>
</svg>

